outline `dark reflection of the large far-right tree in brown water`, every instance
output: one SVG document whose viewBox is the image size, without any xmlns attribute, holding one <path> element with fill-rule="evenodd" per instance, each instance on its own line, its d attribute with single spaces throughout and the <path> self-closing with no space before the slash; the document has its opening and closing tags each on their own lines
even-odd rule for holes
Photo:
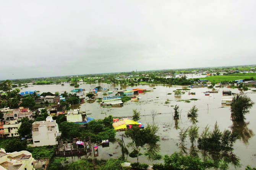
<svg viewBox="0 0 256 170">
<path fill-rule="evenodd" d="M 249 139 L 254 136 L 253 130 L 247 127 L 249 123 L 250 122 L 245 121 L 233 121 L 233 125 L 230 127 L 232 132 L 237 133 L 238 138 L 246 144 L 248 144 Z"/>
</svg>

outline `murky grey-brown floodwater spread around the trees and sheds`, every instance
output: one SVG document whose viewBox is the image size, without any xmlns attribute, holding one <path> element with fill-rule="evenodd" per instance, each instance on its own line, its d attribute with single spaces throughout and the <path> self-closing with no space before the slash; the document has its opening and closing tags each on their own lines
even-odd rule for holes
<svg viewBox="0 0 256 170">
<path fill-rule="evenodd" d="M 120 84 L 81 84 L 79 88 L 85 88 L 86 90 L 93 89 L 93 87 L 102 86 L 108 87 L 110 91 L 114 91 L 114 88 L 120 89 Z M 135 86 L 122 86 L 123 89 L 132 89 Z M 198 122 L 196 123 L 199 126 L 199 134 L 203 131 L 204 127 L 207 125 L 210 127 L 210 130 L 214 128 L 214 124 L 217 121 L 220 131 L 224 131 L 225 129 L 235 130 L 239 133 L 239 140 L 236 141 L 233 148 L 233 154 L 235 154 L 240 159 L 241 167 L 236 167 L 237 169 L 245 169 L 246 165 L 251 165 L 252 167 L 256 167 L 256 105 L 253 106 L 250 110 L 250 114 L 245 115 L 245 122 L 232 122 L 230 120 L 230 106 L 222 106 L 221 105 L 221 97 L 222 90 L 227 88 L 216 88 L 219 91 L 218 94 L 210 94 L 209 96 L 205 96 L 203 92 L 208 91 L 207 87 L 204 88 L 194 88 L 191 89 L 190 92 L 196 92 L 196 95 L 188 95 L 188 92 L 181 95 L 180 97 L 174 96 L 174 90 L 182 89 L 182 87 L 186 86 L 165 86 L 165 85 L 152 85 L 152 84 L 141 84 L 136 86 L 138 88 L 149 88 L 153 89 L 151 92 L 147 92 L 146 94 L 139 94 L 141 100 L 139 102 L 126 102 L 122 108 L 101 108 L 99 103 L 84 103 L 80 106 L 80 110 L 86 110 L 86 113 L 91 113 L 90 117 L 94 117 L 96 119 L 105 118 L 106 113 L 107 116 L 131 116 L 133 109 L 137 109 L 141 112 L 141 122 L 144 126 L 147 126 L 147 123 L 152 123 L 151 116 L 144 116 L 151 114 L 151 111 L 154 110 L 157 114 L 154 122 L 159 126 L 158 135 L 162 139 L 160 141 L 160 154 L 164 156 L 165 154 L 172 154 L 175 151 L 180 151 L 177 146 L 178 143 L 178 132 L 182 128 L 188 128 L 192 125 L 190 119 L 187 118 L 186 114 L 188 110 L 193 105 L 196 105 L 199 109 L 198 111 Z M 24 90 L 36 90 L 42 92 L 55 92 L 55 91 L 68 91 L 70 92 L 73 89 L 69 84 L 65 84 L 65 86 L 58 85 L 34 85 L 32 87 L 24 88 Z M 251 88 L 251 90 L 256 88 Z M 256 92 L 252 92 L 251 90 L 245 91 L 245 93 L 256 103 Z M 232 92 L 239 93 L 238 89 L 232 89 Z M 172 93 L 171 95 L 167 95 L 168 93 Z M 115 94 L 115 92 L 113 92 Z M 97 97 L 102 97 L 101 92 L 98 93 Z M 159 98 L 157 98 L 159 97 Z M 190 103 L 186 103 L 184 101 L 177 102 L 177 100 L 187 100 L 187 99 L 199 99 L 196 101 L 191 101 Z M 166 100 L 169 100 L 169 104 L 165 104 Z M 172 119 L 173 107 L 172 105 L 180 106 L 181 110 L 181 119 L 175 124 L 175 121 Z M 121 135 L 124 132 L 117 132 L 117 138 L 121 139 Z M 130 139 L 124 138 L 125 144 L 127 145 L 131 142 Z M 187 138 L 186 148 L 190 148 L 190 141 Z M 129 149 L 131 151 L 131 149 Z M 198 152 L 199 153 L 199 152 Z M 110 154 L 112 156 L 110 156 Z M 121 155 L 120 146 L 118 143 L 110 143 L 110 147 L 102 148 L 99 147 L 99 158 L 109 159 L 116 158 Z M 199 153 L 200 155 L 200 153 Z M 77 157 L 73 157 L 72 159 L 78 159 Z M 131 158 L 128 156 L 128 160 L 132 162 L 136 162 L 136 158 Z M 145 162 L 147 164 L 154 164 L 156 162 L 161 161 L 149 161 L 144 156 L 139 156 L 140 162 Z M 230 169 L 234 169 L 235 167 L 232 164 L 229 164 Z"/>
</svg>

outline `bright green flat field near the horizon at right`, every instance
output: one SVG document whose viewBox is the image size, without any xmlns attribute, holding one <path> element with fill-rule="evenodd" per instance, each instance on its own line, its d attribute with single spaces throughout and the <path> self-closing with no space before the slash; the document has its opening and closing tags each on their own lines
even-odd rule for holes
<svg viewBox="0 0 256 170">
<path fill-rule="evenodd" d="M 234 74 L 234 75 L 223 75 L 223 76 L 209 76 L 209 77 L 204 77 L 202 79 L 207 79 L 211 82 L 221 82 L 221 81 L 233 81 L 237 79 L 250 79 L 253 77 L 256 79 L 256 73 L 249 73 L 249 74 Z"/>
</svg>

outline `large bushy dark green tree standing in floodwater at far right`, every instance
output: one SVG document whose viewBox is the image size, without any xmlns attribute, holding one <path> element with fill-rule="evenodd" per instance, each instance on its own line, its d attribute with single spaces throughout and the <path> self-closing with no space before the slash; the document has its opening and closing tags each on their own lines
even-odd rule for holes
<svg viewBox="0 0 256 170">
<path fill-rule="evenodd" d="M 254 105 L 250 97 L 245 94 L 238 94 L 231 103 L 231 118 L 233 121 L 244 120 L 244 115 L 249 113 L 249 109 Z"/>
</svg>

